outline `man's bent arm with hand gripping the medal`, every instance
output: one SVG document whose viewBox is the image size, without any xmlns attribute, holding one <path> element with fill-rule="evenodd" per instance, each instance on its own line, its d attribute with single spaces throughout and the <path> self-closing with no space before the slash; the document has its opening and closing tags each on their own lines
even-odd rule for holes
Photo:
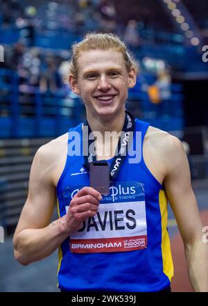
<svg viewBox="0 0 208 306">
<path fill-rule="evenodd" d="M 71 232 L 78 230 L 85 218 L 94 216 L 98 208 L 100 194 L 92 188 L 83 188 L 71 200 L 67 215 L 50 223 L 55 202 L 53 169 L 58 166 L 58 159 L 51 157 L 50 152 L 50 145 L 46 145 L 35 154 L 28 198 L 13 239 L 15 258 L 23 265 L 51 255 Z"/>
</svg>

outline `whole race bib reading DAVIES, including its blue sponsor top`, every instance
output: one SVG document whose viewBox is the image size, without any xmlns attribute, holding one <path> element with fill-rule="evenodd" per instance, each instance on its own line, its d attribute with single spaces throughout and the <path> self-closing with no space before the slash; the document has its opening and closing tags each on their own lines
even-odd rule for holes
<svg viewBox="0 0 208 306">
<path fill-rule="evenodd" d="M 67 187 L 69 198 L 82 187 Z M 110 194 L 103 195 L 96 216 L 85 220 L 83 227 L 70 235 L 70 250 L 76 253 L 125 252 L 146 247 L 145 193 L 139 182 L 114 182 Z"/>
</svg>

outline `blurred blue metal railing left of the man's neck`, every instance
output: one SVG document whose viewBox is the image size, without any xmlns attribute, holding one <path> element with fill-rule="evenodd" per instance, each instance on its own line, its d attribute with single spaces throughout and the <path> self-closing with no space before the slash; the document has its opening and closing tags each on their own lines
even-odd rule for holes
<svg viewBox="0 0 208 306">
<path fill-rule="evenodd" d="M 17 73 L 0 70 L 0 138 L 60 136 L 84 117 L 80 98 L 70 90 L 42 93 L 20 85 Z"/>
</svg>

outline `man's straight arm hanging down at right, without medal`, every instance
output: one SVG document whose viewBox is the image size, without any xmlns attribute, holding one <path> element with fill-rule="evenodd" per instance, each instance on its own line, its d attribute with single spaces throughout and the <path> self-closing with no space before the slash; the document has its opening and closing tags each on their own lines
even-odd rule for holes
<svg viewBox="0 0 208 306">
<path fill-rule="evenodd" d="M 164 186 L 184 242 L 189 278 L 194 291 L 208 291 L 208 245 L 202 242 L 202 223 L 187 156 L 180 140 L 166 136 Z"/>
</svg>

